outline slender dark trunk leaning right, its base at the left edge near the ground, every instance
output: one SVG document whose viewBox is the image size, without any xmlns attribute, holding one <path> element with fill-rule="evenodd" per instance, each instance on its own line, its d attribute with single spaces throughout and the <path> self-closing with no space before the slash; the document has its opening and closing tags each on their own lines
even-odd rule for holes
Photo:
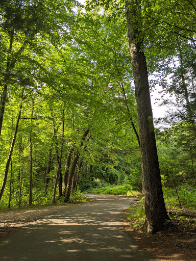
<svg viewBox="0 0 196 261">
<path fill-rule="evenodd" d="M 23 90 L 22 90 L 22 95 L 21 95 L 21 101 L 20 101 L 20 107 L 19 107 L 19 112 L 18 112 L 18 117 L 16 120 L 16 126 L 15 126 L 15 131 L 14 131 L 14 135 L 13 135 L 13 139 L 12 139 L 12 144 L 10 146 L 10 151 L 9 151 L 9 155 L 8 155 L 8 160 L 6 163 L 6 167 L 4 170 L 4 176 L 3 176 L 3 181 L 2 181 L 2 187 L 0 190 L 0 201 L 2 199 L 3 193 L 4 193 L 4 189 L 6 186 L 6 181 L 7 181 L 7 177 L 8 177 L 8 171 L 9 171 L 9 166 L 10 166 L 10 162 L 11 162 L 11 158 L 12 158 L 12 152 L 14 149 L 14 144 L 16 141 L 16 135 L 17 135 L 17 131 L 18 131 L 18 125 L 19 125 L 19 121 L 20 121 L 20 115 L 21 115 L 21 109 L 22 109 L 22 96 L 23 96 Z"/>
</svg>

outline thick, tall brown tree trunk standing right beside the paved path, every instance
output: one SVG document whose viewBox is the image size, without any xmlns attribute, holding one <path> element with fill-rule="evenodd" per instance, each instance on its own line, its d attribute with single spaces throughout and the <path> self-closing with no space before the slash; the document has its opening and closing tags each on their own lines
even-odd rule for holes
<svg viewBox="0 0 196 261">
<path fill-rule="evenodd" d="M 145 197 L 144 230 L 154 233 L 164 227 L 169 220 L 161 186 L 161 176 L 157 156 L 156 140 L 151 108 L 148 71 L 142 42 L 138 39 L 141 26 L 140 8 L 137 0 L 127 0 L 127 30 L 131 55 L 131 63 L 135 83 L 135 96 L 137 102 L 139 139 L 142 163 L 142 190 Z M 134 18 L 134 19 L 133 19 Z M 141 29 L 141 28 L 140 28 Z"/>
</svg>

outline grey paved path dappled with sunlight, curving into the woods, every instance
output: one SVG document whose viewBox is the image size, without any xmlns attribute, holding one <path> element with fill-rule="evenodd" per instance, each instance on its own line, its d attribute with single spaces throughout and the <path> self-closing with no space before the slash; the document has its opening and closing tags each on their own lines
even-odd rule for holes
<svg viewBox="0 0 196 261">
<path fill-rule="evenodd" d="M 155 261 L 140 250 L 120 221 L 133 198 L 89 195 L 23 227 L 0 243 L 0 260 L 8 261 Z"/>
</svg>

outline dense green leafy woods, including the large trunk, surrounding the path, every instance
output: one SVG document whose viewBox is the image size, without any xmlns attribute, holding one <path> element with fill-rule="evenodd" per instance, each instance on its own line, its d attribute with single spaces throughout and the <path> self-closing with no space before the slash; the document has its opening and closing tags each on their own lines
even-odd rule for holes
<svg viewBox="0 0 196 261">
<path fill-rule="evenodd" d="M 121 186 L 155 232 L 196 206 L 194 0 L 2 0 L 0 17 L 2 209 Z"/>
</svg>

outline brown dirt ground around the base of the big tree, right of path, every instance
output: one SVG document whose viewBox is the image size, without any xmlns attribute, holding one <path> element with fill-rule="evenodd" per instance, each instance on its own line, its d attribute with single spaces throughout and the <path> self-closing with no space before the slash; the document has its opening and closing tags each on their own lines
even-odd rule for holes
<svg viewBox="0 0 196 261">
<path fill-rule="evenodd" d="M 196 218 L 188 221 L 173 221 L 174 228 L 162 230 L 156 234 L 144 234 L 141 228 L 134 227 L 136 221 L 128 221 L 122 214 L 126 231 L 137 245 L 148 250 L 152 256 L 161 261 L 195 261 L 196 260 Z M 188 226 L 185 224 L 188 223 Z"/>
</svg>

